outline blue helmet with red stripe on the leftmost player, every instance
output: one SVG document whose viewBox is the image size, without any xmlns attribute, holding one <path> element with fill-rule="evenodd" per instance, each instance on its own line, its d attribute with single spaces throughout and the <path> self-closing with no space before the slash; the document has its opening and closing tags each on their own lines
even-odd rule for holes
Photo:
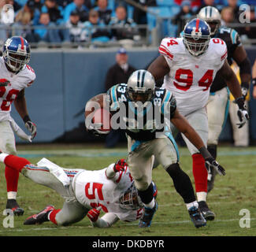
<svg viewBox="0 0 256 252">
<path fill-rule="evenodd" d="M 7 39 L 2 48 L 2 56 L 11 71 L 20 71 L 30 60 L 28 41 L 20 36 Z"/>
</svg>

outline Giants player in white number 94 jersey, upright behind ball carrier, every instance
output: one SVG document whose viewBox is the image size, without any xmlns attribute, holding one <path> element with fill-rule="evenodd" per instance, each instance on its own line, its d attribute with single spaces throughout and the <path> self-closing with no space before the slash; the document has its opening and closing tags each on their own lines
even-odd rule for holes
<svg viewBox="0 0 256 252">
<path fill-rule="evenodd" d="M 205 146 L 208 139 L 206 103 L 217 71 L 236 98 L 239 119 L 241 122 L 249 119 L 239 82 L 226 61 L 227 46 L 222 39 L 210 39 L 210 27 L 206 21 L 198 18 L 189 21 L 182 38 L 162 39 L 159 52 L 161 55 L 150 64 L 148 71 L 156 80 L 165 77 L 162 87 L 173 93 L 180 114 L 195 128 Z M 178 130 L 174 126 L 172 131 L 176 135 Z M 206 204 L 208 173 L 205 160 L 184 134 L 183 138 L 193 160 L 199 208 L 206 220 L 213 220 L 215 214 Z"/>
</svg>

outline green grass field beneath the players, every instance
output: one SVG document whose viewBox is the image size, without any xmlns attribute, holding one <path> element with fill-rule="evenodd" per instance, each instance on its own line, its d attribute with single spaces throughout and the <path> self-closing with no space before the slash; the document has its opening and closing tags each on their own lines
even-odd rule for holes
<svg viewBox="0 0 256 252">
<path fill-rule="evenodd" d="M 17 146 L 21 157 L 36 163 L 46 157 L 67 168 L 102 169 L 126 155 L 125 148 L 106 150 L 101 146 Z M 112 228 L 91 228 L 86 218 L 69 227 L 57 227 L 51 222 L 36 226 L 24 226 L 26 217 L 38 213 L 46 205 L 61 208 L 63 199 L 47 187 L 40 186 L 20 175 L 17 201 L 25 209 L 24 216 L 14 218 L 14 228 L 4 228 L 6 216 L 6 180 L 4 165 L 0 165 L 0 236 L 254 236 L 256 235 L 256 147 L 219 147 L 217 161 L 226 169 L 226 176 L 217 176 L 208 204 L 217 217 L 207 222 L 205 228 L 195 228 L 191 223 L 173 181 L 159 166 L 153 171 L 158 185 L 158 212 L 150 228 L 138 228 L 138 222 L 117 222 Z M 180 164 L 191 177 L 191 156 L 186 148 L 180 148 Z M 250 211 L 250 228 L 240 228 L 241 209 Z M 245 222 L 245 221 L 241 221 Z"/>
</svg>

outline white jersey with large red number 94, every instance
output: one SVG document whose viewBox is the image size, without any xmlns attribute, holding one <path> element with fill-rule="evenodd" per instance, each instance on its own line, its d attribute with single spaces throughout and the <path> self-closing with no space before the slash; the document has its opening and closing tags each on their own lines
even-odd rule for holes
<svg viewBox="0 0 256 252">
<path fill-rule="evenodd" d="M 173 93 L 179 112 L 186 116 L 205 107 L 210 85 L 227 57 L 224 41 L 210 39 L 206 53 L 194 57 L 186 50 L 182 38 L 165 38 L 159 52 L 170 68 L 162 87 Z"/>
</svg>

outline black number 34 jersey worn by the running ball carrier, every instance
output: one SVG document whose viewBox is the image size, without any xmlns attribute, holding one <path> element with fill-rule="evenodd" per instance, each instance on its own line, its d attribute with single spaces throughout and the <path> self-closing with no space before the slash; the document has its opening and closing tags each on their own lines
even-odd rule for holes
<svg viewBox="0 0 256 252">
<path fill-rule="evenodd" d="M 155 139 L 157 132 L 169 132 L 169 120 L 176 110 L 172 93 L 156 87 L 150 101 L 142 103 L 132 102 L 126 89 L 127 84 L 121 83 L 107 91 L 112 128 L 124 130 L 139 141 Z"/>
</svg>

